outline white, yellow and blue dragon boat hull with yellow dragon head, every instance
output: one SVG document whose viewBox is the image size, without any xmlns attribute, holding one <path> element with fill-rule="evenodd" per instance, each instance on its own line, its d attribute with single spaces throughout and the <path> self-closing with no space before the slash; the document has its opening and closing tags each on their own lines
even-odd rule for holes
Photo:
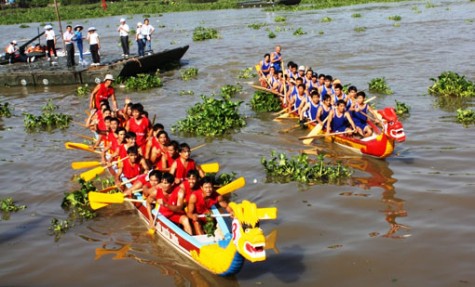
<svg viewBox="0 0 475 287">
<path fill-rule="evenodd" d="M 142 199 L 140 193 L 136 193 Z M 238 273 L 245 260 L 258 262 L 266 260 L 266 241 L 268 248 L 272 248 L 275 233 L 266 239 L 259 221 L 276 218 L 276 208 L 257 208 L 255 203 L 244 200 L 242 203 L 229 203 L 234 211 L 232 229 L 221 216 L 217 208 L 212 208 L 212 214 L 217 222 L 217 231 L 214 236 L 189 235 L 165 216 L 153 210 L 151 219 L 148 217 L 146 205 L 135 203 L 140 217 L 149 226 L 150 220 L 155 220 L 156 233 L 174 249 L 197 263 L 204 269 L 220 275 L 230 276 Z M 270 211 L 269 211 L 270 210 Z"/>
</svg>

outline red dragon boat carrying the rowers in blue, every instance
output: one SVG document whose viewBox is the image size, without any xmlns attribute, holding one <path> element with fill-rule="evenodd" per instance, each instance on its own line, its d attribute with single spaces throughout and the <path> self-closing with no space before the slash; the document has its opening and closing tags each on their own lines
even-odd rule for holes
<svg viewBox="0 0 475 287">
<path fill-rule="evenodd" d="M 272 90 L 253 86 L 255 89 L 266 91 L 273 95 L 276 93 Z M 373 128 L 373 135 L 367 138 L 356 138 L 344 134 L 332 135 L 325 137 L 326 140 L 334 142 L 344 148 L 359 154 L 365 154 L 376 158 L 386 158 L 394 152 L 396 142 L 404 142 L 406 134 L 404 127 L 399 121 L 394 108 L 386 107 L 378 110 L 381 115 L 382 128 L 377 127 L 373 122 L 368 120 L 368 124 Z M 294 116 L 298 118 L 296 112 Z M 314 128 L 316 123 L 308 124 L 308 128 Z M 323 136 L 323 135 L 322 135 Z"/>
</svg>

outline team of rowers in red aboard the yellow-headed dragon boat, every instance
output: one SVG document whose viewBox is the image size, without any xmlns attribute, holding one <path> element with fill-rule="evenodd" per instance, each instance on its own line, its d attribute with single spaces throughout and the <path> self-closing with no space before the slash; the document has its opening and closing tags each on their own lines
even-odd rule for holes
<svg viewBox="0 0 475 287">
<path fill-rule="evenodd" d="M 126 98 L 125 106 L 118 109 L 113 81 L 112 75 L 106 75 L 92 91 L 86 120 L 86 125 L 99 134 L 94 147 L 103 147 L 102 161 L 110 167 L 118 186 L 124 181 L 132 184 L 123 190 L 125 196 L 142 191 L 150 218 L 156 203 L 163 216 L 188 234 L 204 234 L 202 225 L 207 219 L 202 215 L 214 205 L 232 213 L 227 199 L 215 191 L 214 178 L 205 176 L 190 157 L 190 146 L 170 140 L 162 124 L 149 121 L 140 103 Z M 118 169 L 111 168 L 113 162 L 118 162 Z M 153 225 L 150 220 L 150 227 Z"/>
</svg>

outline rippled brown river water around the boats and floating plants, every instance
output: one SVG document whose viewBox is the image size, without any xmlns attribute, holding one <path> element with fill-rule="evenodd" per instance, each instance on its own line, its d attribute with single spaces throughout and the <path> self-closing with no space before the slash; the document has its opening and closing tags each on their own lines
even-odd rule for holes
<svg viewBox="0 0 475 287">
<path fill-rule="evenodd" d="M 403 120 L 407 140 L 386 160 L 355 156 L 316 141 L 355 173 L 345 185 L 306 187 L 266 183 L 259 160 L 271 150 L 296 154 L 305 149 L 297 137 L 306 132 L 279 133 L 293 122 L 272 121 L 272 116 L 255 115 L 243 105 L 247 126 L 210 141 L 194 156 L 198 162 L 219 161 L 222 171 L 244 176 L 248 183 L 236 192 L 238 200 L 279 208 L 279 219 L 263 228 L 278 231 L 280 253 L 269 250 L 267 261 L 246 264 L 232 278 L 213 276 L 177 256 L 159 238 L 148 236 L 135 212 L 123 206 L 101 210 L 96 219 L 75 226 L 55 242 L 48 235 L 50 221 L 66 217 L 60 207 L 63 194 L 77 187 L 69 165 L 94 157 L 64 148 L 65 141 L 81 141 L 72 134 L 85 133 L 81 127 L 28 134 L 21 113 L 39 113 L 47 99 L 54 99 L 61 111 L 81 121 L 87 99 L 78 98 L 75 87 L 0 89 L 0 102 L 15 107 L 14 117 L 0 119 L 0 197 L 12 196 L 28 206 L 0 222 L 0 285 L 473 286 L 473 126 L 455 123 L 454 112 L 436 107 L 435 99 L 426 94 L 429 79 L 446 70 L 475 80 L 475 3 L 432 3 L 435 7 L 404 2 L 303 12 L 246 9 L 152 15 L 152 24 L 164 25 L 158 28 L 154 48 L 191 44 L 181 69 L 199 68 L 198 79 L 184 82 L 175 70 L 163 75 L 163 88 L 141 93 L 118 89 L 117 95 L 120 102 L 126 95 L 140 101 L 166 127 L 183 118 L 200 100 L 199 94 L 217 92 L 224 84 L 242 83 L 239 98 L 248 102 L 253 93 L 249 80 L 236 79 L 237 73 L 276 44 L 282 45 L 285 61 L 311 66 L 360 89 L 372 78 L 385 77 L 395 94 L 379 96 L 376 106 L 394 106 L 397 99 L 411 107 L 410 117 Z M 354 13 L 362 17 L 352 18 Z M 286 16 L 287 24 L 275 39 L 269 39 L 264 28 L 247 28 L 257 22 L 275 25 L 277 15 Z M 388 19 L 393 15 L 402 17 L 400 27 Z M 322 23 L 325 16 L 332 21 Z M 129 17 L 129 23 L 141 17 Z M 83 21 L 98 28 L 106 58 L 121 53 L 114 33 L 119 18 Z M 222 38 L 192 42 L 198 25 L 216 27 Z M 36 28 L 31 26 L 18 33 L 32 36 Z M 298 27 L 307 34 L 293 36 Z M 367 29 L 358 33 L 355 27 Z M 0 34 L 12 29 L 19 30 L 1 26 Z M 195 96 L 180 96 L 181 90 L 193 90 Z M 177 138 L 191 146 L 205 141 Z M 96 248 L 128 251 L 122 258 L 101 257 Z"/>
</svg>

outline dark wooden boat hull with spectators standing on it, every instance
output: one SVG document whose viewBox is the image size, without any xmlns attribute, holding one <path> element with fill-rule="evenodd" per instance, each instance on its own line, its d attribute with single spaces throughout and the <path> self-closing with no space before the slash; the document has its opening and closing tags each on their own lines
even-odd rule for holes
<svg viewBox="0 0 475 287">
<path fill-rule="evenodd" d="M 91 67 L 67 68 L 66 65 L 57 66 L 45 61 L 6 65 L 0 67 L 0 86 L 94 84 L 100 82 L 105 74 L 131 77 L 153 73 L 157 69 L 178 63 L 188 48 L 187 45 L 144 57 L 130 57 Z"/>
</svg>

